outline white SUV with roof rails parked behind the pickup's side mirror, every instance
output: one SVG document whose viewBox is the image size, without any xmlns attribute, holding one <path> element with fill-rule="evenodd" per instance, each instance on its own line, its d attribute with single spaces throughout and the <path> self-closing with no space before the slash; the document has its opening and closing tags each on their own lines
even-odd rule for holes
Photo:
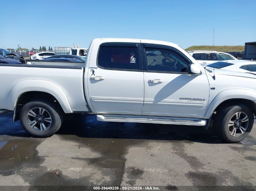
<svg viewBox="0 0 256 191">
<path fill-rule="evenodd" d="M 217 51 L 188 51 L 188 53 L 196 59 L 199 64 L 202 66 L 211 64 L 214 61 L 223 61 L 223 60 L 237 60 L 234 56 Z"/>
</svg>

